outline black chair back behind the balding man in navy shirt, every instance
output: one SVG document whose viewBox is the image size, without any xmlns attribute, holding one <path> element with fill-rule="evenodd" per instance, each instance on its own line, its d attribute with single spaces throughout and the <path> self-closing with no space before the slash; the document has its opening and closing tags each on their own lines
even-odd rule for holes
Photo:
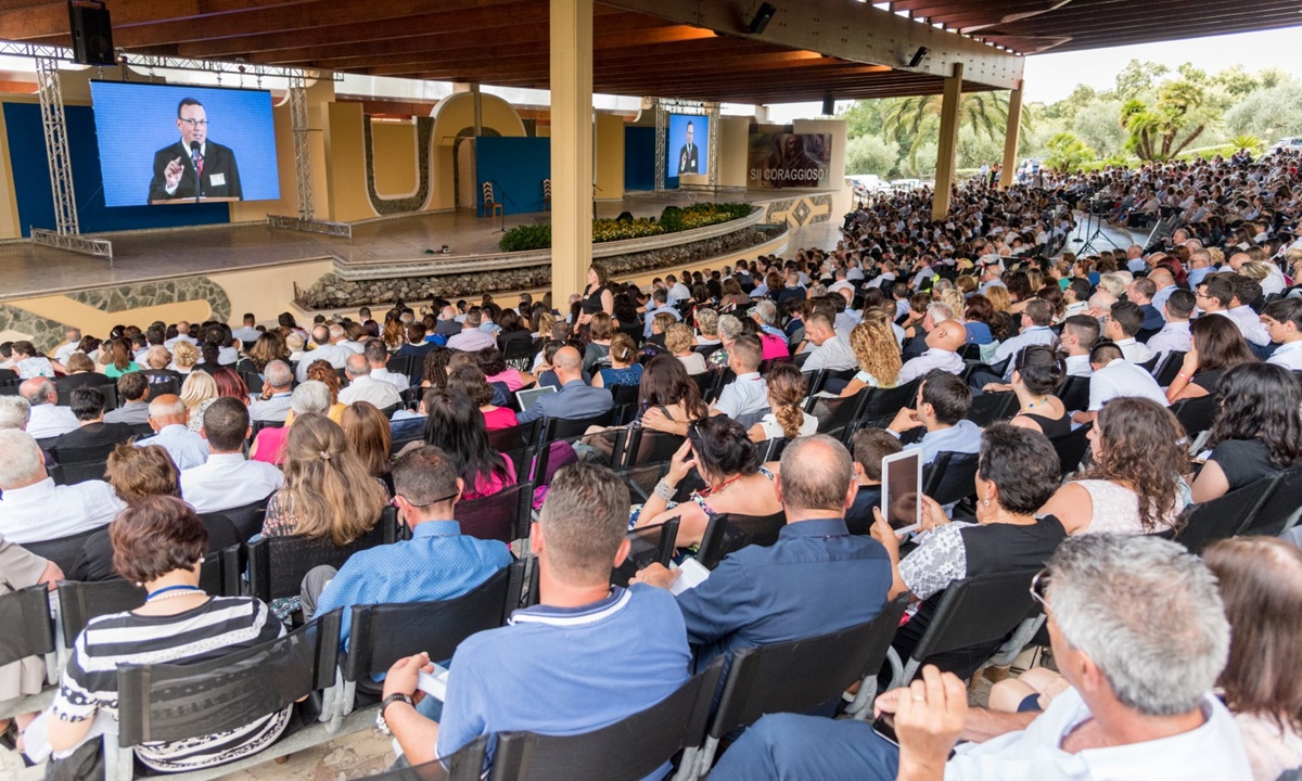
<svg viewBox="0 0 1302 781">
<path fill-rule="evenodd" d="M 904 594 L 894 597 L 867 623 L 733 653 L 710 737 L 723 738 L 766 713 L 806 713 L 838 699 L 863 676 L 876 673 L 907 599 Z"/>
</svg>

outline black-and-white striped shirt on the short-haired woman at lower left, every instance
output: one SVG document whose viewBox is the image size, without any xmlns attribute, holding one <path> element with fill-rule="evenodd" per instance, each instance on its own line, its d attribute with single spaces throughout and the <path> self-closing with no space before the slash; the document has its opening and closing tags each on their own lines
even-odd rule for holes
<svg viewBox="0 0 1302 781">
<path fill-rule="evenodd" d="M 284 634 L 284 623 L 266 604 L 250 597 L 214 597 L 174 616 L 117 613 L 95 618 L 77 637 L 53 715 L 64 721 L 85 721 L 103 709 L 117 720 L 118 665 L 198 664 Z M 290 709 L 234 730 L 172 743 L 141 743 L 135 755 L 148 768 L 163 772 L 234 761 L 275 742 L 289 722 Z"/>
</svg>

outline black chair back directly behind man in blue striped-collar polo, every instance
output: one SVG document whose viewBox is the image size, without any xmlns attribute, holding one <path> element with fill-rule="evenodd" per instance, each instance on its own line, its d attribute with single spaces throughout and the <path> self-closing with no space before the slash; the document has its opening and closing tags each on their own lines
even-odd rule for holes
<svg viewBox="0 0 1302 781">
<path fill-rule="evenodd" d="M 655 706 L 590 733 L 500 733 L 492 780 L 644 778 L 682 748 L 700 743 L 723 661 L 715 660 Z"/>
</svg>

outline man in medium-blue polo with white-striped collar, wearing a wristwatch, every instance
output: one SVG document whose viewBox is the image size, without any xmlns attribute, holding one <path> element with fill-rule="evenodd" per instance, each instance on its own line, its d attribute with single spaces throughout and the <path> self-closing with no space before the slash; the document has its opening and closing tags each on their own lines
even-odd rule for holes
<svg viewBox="0 0 1302 781">
<path fill-rule="evenodd" d="M 691 651 L 673 596 L 642 583 L 611 586 L 611 568 L 629 553 L 628 523 L 629 491 L 609 469 L 575 463 L 556 473 L 530 536 L 542 604 L 457 647 L 440 724 L 413 706 L 428 656 L 389 668 L 378 721 L 392 729 L 406 761 L 450 756 L 505 730 L 600 729 L 687 679 Z M 665 763 L 656 777 L 668 769 Z"/>
</svg>

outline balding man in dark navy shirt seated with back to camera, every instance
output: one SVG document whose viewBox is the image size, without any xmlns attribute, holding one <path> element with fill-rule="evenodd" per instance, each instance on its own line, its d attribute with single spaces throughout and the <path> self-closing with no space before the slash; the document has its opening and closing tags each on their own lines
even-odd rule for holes
<svg viewBox="0 0 1302 781">
<path fill-rule="evenodd" d="M 729 553 L 708 579 L 678 595 L 687 642 L 700 647 L 698 670 L 741 648 L 867 623 L 887 604 L 885 548 L 845 526 L 859 488 L 845 446 L 827 435 L 792 440 L 773 488 L 786 512 L 777 541 Z M 668 588 L 680 571 L 652 564 L 637 581 Z M 855 597 L 822 597 L 828 594 Z"/>
</svg>

